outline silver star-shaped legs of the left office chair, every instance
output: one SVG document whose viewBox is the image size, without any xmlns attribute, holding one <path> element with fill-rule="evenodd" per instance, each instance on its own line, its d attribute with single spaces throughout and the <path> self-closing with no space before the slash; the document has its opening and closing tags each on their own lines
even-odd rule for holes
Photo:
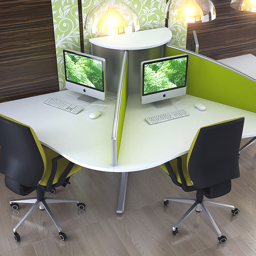
<svg viewBox="0 0 256 256">
<path fill-rule="evenodd" d="M 28 212 L 23 216 L 23 218 L 19 221 L 19 223 L 13 228 L 14 234 L 17 233 L 17 228 L 25 221 L 27 218 L 39 207 L 40 210 L 46 209 L 50 217 L 52 218 L 54 224 L 59 230 L 59 234 L 61 232 L 61 227 L 58 221 L 55 219 L 54 215 L 52 214 L 52 211 L 50 210 L 48 204 L 52 203 L 70 203 L 70 202 L 76 202 L 77 206 L 79 207 L 80 210 L 80 204 L 79 200 L 77 199 L 66 199 L 66 198 L 55 198 L 55 197 L 44 197 L 43 200 L 39 200 L 38 197 L 32 197 L 32 198 L 24 198 L 24 199 L 17 199 L 17 200 L 11 200 L 10 204 L 12 206 L 13 203 L 25 203 L 25 204 L 33 204 L 32 207 L 28 210 Z M 82 204 L 82 203 L 81 203 Z M 16 205 L 15 205 L 16 206 Z M 85 205 L 84 205 L 85 206 Z M 17 209 L 19 207 L 16 206 Z"/>
</svg>

